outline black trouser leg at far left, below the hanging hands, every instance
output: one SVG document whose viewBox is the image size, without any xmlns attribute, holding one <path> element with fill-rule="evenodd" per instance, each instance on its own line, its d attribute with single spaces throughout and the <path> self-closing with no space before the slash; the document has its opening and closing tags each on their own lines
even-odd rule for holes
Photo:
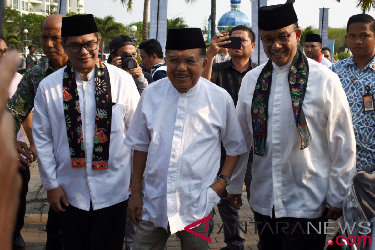
<svg viewBox="0 0 375 250">
<path fill-rule="evenodd" d="M 22 178 L 22 188 L 20 193 L 20 205 L 18 206 L 16 225 L 13 234 L 14 238 L 21 236 L 21 229 L 25 223 L 26 195 L 28 192 L 28 182 L 30 181 L 30 169 L 28 167 L 26 167 L 26 169 L 20 169 L 18 172 Z"/>
</svg>

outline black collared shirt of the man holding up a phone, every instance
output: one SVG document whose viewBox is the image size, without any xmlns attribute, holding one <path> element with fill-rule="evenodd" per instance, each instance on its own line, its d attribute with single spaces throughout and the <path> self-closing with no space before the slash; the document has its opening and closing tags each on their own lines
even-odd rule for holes
<svg viewBox="0 0 375 250">
<path fill-rule="evenodd" d="M 228 91 L 233 98 L 234 105 L 237 105 L 238 92 L 240 91 L 243 76 L 258 65 L 250 59 L 249 68 L 244 72 L 239 72 L 234 68 L 232 59 L 222 63 L 214 63 L 211 71 L 211 82 Z"/>
</svg>

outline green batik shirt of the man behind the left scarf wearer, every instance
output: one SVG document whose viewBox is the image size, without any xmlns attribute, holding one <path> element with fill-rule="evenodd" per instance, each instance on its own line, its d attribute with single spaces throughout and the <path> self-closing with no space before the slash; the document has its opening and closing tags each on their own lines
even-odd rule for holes
<svg viewBox="0 0 375 250">
<path fill-rule="evenodd" d="M 34 97 L 40 81 L 51 75 L 55 70 L 46 59 L 26 71 L 18 84 L 16 93 L 7 104 L 7 109 L 12 112 L 15 119 L 14 134 L 17 136 L 21 124 L 26 120 L 28 114 L 34 108 Z"/>
</svg>

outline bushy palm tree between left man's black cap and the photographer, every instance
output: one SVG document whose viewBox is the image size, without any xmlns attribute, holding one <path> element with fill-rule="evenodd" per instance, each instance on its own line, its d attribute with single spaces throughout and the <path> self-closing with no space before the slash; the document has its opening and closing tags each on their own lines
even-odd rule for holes
<svg viewBox="0 0 375 250">
<path fill-rule="evenodd" d="M 113 39 L 124 30 L 124 27 L 122 24 L 115 22 L 114 17 L 111 15 L 106 16 L 105 18 L 95 18 L 95 21 L 96 25 L 98 25 L 99 34 L 102 38 L 100 49 L 102 50 L 101 60 L 103 60 L 104 45 L 106 40 Z"/>
</svg>

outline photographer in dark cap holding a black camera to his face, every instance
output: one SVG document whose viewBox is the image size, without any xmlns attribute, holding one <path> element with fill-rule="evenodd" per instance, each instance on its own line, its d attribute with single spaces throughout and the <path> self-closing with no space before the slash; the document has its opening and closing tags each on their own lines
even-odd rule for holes
<svg viewBox="0 0 375 250">
<path fill-rule="evenodd" d="M 149 83 L 153 82 L 151 75 L 143 72 L 139 66 L 136 56 L 137 51 L 133 40 L 126 35 L 116 36 L 110 42 L 111 54 L 107 62 L 117 66 L 133 76 L 139 94 L 143 92 Z"/>
</svg>

